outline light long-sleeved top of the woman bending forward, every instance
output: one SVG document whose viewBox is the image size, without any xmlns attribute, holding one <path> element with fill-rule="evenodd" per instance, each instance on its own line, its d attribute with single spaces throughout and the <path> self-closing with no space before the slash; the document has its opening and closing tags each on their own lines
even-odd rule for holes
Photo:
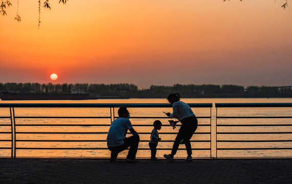
<svg viewBox="0 0 292 184">
<path fill-rule="evenodd" d="M 185 118 L 195 116 L 191 107 L 182 101 L 174 102 L 172 105 L 173 112 L 170 114 L 170 118 L 176 118 L 179 121 L 182 121 Z"/>
</svg>

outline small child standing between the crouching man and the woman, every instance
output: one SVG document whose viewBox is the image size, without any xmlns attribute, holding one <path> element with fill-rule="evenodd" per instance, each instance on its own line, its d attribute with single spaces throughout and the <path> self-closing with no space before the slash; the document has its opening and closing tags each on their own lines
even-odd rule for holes
<svg viewBox="0 0 292 184">
<path fill-rule="evenodd" d="M 161 138 L 159 138 L 159 134 L 157 130 L 160 130 L 162 126 L 161 121 L 156 120 L 153 122 L 153 130 L 151 132 L 150 141 L 149 141 L 149 147 L 151 150 L 151 160 L 158 161 L 159 159 L 156 158 L 156 147 L 158 145 L 158 142 L 161 141 Z"/>
</svg>

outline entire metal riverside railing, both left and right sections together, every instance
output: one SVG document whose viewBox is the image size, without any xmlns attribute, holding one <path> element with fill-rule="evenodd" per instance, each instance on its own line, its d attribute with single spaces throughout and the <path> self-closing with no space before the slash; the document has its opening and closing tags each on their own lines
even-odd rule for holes
<svg viewBox="0 0 292 184">
<path fill-rule="evenodd" d="M 232 143 L 289 143 L 292 142 L 290 138 L 288 139 L 254 139 L 253 137 L 250 137 L 249 135 L 270 135 L 270 134 L 276 134 L 276 135 L 287 135 L 286 137 L 292 137 L 291 131 L 234 131 L 234 127 L 291 127 L 292 123 L 289 121 L 289 119 L 292 119 L 291 114 L 289 114 L 290 111 L 288 111 L 288 116 L 218 116 L 218 109 L 222 108 L 233 108 L 233 109 L 238 109 L 240 108 L 268 108 L 268 107 L 273 107 L 273 108 L 279 108 L 279 107 L 285 107 L 285 108 L 290 108 L 292 107 L 292 103 L 216 103 L 215 108 L 216 108 L 216 117 L 214 117 L 215 122 L 213 123 L 212 120 L 212 104 L 211 103 L 204 103 L 204 104 L 194 104 L 190 103 L 189 104 L 192 108 L 210 108 L 210 115 L 208 116 L 201 116 L 198 117 L 198 119 L 207 119 L 210 120 L 210 123 L 208 124 L 202 124 L 199 123 L 199 127 L 208 127 L 210 128 L 210 131 L 205 131 L 205 132 L 195 132 L 195 134 L 204 134 L 209 136 L 208 139 L 199 139 L 199 140 L 192 140 L 191 142 L 197 142 L 197 143 L 208 143 L 210 146 L 207 148 L 203 147 L 198 147 L 198 148 L 192 148 L 193 150 L 207 150 L 210 151 L 210 157 L 220 157 L 218 156 L 218 151 L 224 151 L 224 150 L 292 150 L 291 146 L 285 146 L 285 147 L 264 147 L 264 146 L 258 146 L 258 147 L 232 147 Z M 9 134 L 11 135 L 9 139 L 1 139 L 0 142 L 11 142 L 11 147 L 0 147 L 1 150 L 9 150 L 11 149 L 11 157 L 16 157 L 16 151 L 17 150 L 107 150 L 106 146 L 105 147 L 24 147 L 24 146 L 18 146 L 17 143 L 25 143 L 25 142 L 106 142 L 105 139 L 86 139 L 86 140 L 72 140 L 72 139 L 65 139 L 65 140 L 50 140 L 50 139 L 42 139 L 42 140 L 32 140 L 32 139 L 19 139 L 18 136 L 21 134 L 46 134 L 46 135 L 51 135 L 51 134 L 103 134 L 106 135 L 107 131 L 91 131 L 91 132 L 82 132 L 82 131 L 61 131 L 61 132 L 50 132 L 50 131 L 18 131 L 19 127 L 41 127 L 41 126 L 57 126 L 57 127 L 62 127 L 62 126 L 73 126 L 73 127 L 109 127 L 110 122 L 112 122 L 117 116 L 115 116 L 115 110 L 117 108 L 126 106 L 129 108 L 171 108 L 169 104 L 88 104 L 88 103 L 74 103 L 74 104 L 52 104 L 52 103 L 7 103 L 7 104 L 0 104 L 0 107 L 2 108 L 9 108 L 9 113 L 10 116 L 3 116 L 0 117 L 0 119 L 8 119 L 10 120 L 10 124 L 3 124 L 0 122 L 0 127 L 11 127 L 10 131 L 0 131 L 0 136 L 3 137 L 3 134 Z M 15 113 L 15 108 L 105 108 L 108 109 L 107 114 L 105 116 L 19 116 L 19 114 Z M 146 110 L 147 111 L 147 110 Z M 36 124 L 36 123 L 19 123 L 21 120 L 24 119 L 106 119 L 108 120 L 108 124 L 100 124 L 100 123 L 92 123 L 92 124 Z M 148 117 L 148 116 L 136 116 L 136 117 L 131 117 L 131 119 L 168 119 L 168 117 Z M 236 123 L 218 123 L 219 120 L 236 120 Z M 277 119 L 277 120 L 288 120 L 288 123 L 271 123 L 271 124 L 238 124 L 237 120 L 245 120 L 245 119 Z M 135 121 L 132 121 L 135 122 Z M 133 127 L 151 127 L 151 124 L 135 124 L 133 123 Z M 163 126 L 169 126 L 169 125 L 163 125 Z M 212 129 L 212 127 L 215 127 L 215 130 Z M 218 131 L 217 127 L 224 127 L 225 129 L 223 131 Z M 176 134 L 177 132 L 160 132 L 160 134 Z M 140 132 L 140 135 L 143 134 L 149 134 L 150 132 Z M 243 136 L 243 139 L 237 139 L 238 137 L 235 137 L 233 139 L 218 139 L 218 135 L 240 135 Z M 244 135 L 248 135 L 249 137 L 244 137 Z M 212 140 L 212 137 L 214 137 L 215 140 Z M 254 136 L 255 137 L 255 136 Z M 252 139 L 251 139 L 252 138 Z M 140 142 L 148 142 L 149 140 L 147 139 L 141 139 Z M 168 143 L 168 142 L 173 142 L 173 140 L 163 140 L 163 143 Z M 212 145 L 212 143 L 215 143 Z M 218 144 L 220 143 L 230 143 L 228 146 L 224 147 Z M 213 147 L 215 149 L 213 149 Z M 161 147 L 158 148 L 158 150 L 170 150 L 171 148 L 167 147 Z M 139 150 L 149 150 L 149 148 L 139 148 Z M 184 150 L 184 148 L 180 148 L 179 150 Z M 216 153 L 212 153 L 212 150 L 215 150 Z M 224 157 L 224 156 L 221 156 Z"/>
</svg>

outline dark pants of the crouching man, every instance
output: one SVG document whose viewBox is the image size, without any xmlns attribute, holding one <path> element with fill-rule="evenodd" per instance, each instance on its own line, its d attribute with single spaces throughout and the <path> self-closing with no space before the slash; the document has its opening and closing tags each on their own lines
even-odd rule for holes
<svg viewBox="0 0 292 184">
<path fill-rule="evenodd" d="M 120 145 L 120 146 L 111 146 L 108 147 L 109 151 L 111 151 L 110 153 L 110 161 L 115 161 L 118 154 L 122 151 L 124 151 L 125 149 L 127 149 L 128 147 L 130 147 L 127 158 L 131 157 L 131 158 L 136 158 L 136 153 L 138 150 L 138 146 L 139 146 L 139 141 L 140 141 L 140 137 L 139 135 L 132 135 L 130 137 L 126 137 L 126 139 L 124 139 L 124 144 Z"/>
</svg>

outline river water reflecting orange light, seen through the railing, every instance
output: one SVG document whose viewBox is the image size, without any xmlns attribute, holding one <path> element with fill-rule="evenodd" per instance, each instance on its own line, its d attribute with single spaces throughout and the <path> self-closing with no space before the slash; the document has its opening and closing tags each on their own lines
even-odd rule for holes
<svg viewBox="0 0 292 184">
<path fill-rule="evenodd" d="M 217 148 L 292 148 L 292 142 L 218 142 L 216 145 L 216 123 L 220 124 L 256 124 L 267 126 L 218 126 L 217 132 L 292 132 L 292 126 L 268 126 L 269 124 L 291 124 L 290 118 L 280 119 L 217 119 L 215 103 L 292 103 L 292 98 L 220 98 L 220 99 L 181 99 L 186 103 L 213 103 L 213 108 L 192 108 L 197 117 L 208 117 L 211 115 L 211 120 L 208 118 L 199 118 L 199 126 L 196 134 L 193 135 L 192 148 L 206 148 L 210 150 L 193 150 L 193 157 L 291 157 L 291 149 L 271 149 L 271 150 L 217 150 Z M 0 101 L 0 103 L 168 103 L 166 99 L 100 99 L 100 100 L 80 100 L 80 101 Z M 164 117 L 162 111 L 172 112 L 171 108 L 128 108 L 131 117 Z M 68 117 L 93 117 L 103 116 L 109 117 L 109 108 L 15 108 L 15 116 L 68 116 Z M 118 116 L 115 108 L 115 116 Z M 259 117 L 283 117 L 291 116 L 292 108 L 218 108 L 217 116 L 259 116 Z M 0 117 L 10 116 L 9 108 L 0 108 Z M 156 119 L 130 119 L 134 129 L 140 134 L 140 139 L 145 142 L 140 142 L 139 148 L 148 148 L 148 140 L 151 126 L 135 126 L 135 125 L 151 125 Z M 160 119 L 163 123 L 160 132 L 160 137 L 163 141 L 160 142 L 158 148 L 171 148 L 172 142 L 175 139 L 175 133 L 179 127 L 172 129 L 168 123 L 168 119 Z M 10 119 L 1 118 L 0 124 L 10 124 Z M 16 125 L 23 124 L 104 124 L 110 125 L 110 119 L 16 119 Z M 210 126 L 206 126 L 206 125 Z M 109 126 L 17 126 L 17 132 L 107 132 Z M 11 131 L 10 126 L 0 126 L 0 132 Z M 211 132 L 211 136 L 210 133 Z M 165 134 L 166 133 L 166 134 Z M 167 134 L 173 133 L 173 134 Z M 0 134 L 0 147 L 11 147 L 11 143 L 2 140 L 11 139 L 11 134 Z M 105 140 L 106 133 L 102 134 L 26 134 L 19 133 L 16 135 L 16 140 Z M 206 142 L 208 140 L 210 142 Z M 265 133 L 265 134 L 217 134 L 217 140 L 292 140 L 290 133 Z M 205 142 L 204 142 L 205 141 Z M 17 142 L 17 148 L 106 148 L 106 142 Z M 179 148 L 185 148 L 181 145 Z M 163 157 L 163 154 L 170 153 L 170 150 L 158 150 L 157 156 Z M 120 157 L 125 157 L 127 151 L 119 154 Z M 0 149 L 0 156 L 6 157 L 11 155 L 11 150 Z M 33 157 L 108 157 L 108 150 L 34 150 L 34 149 L 17 149 L 16 156 L 33 156 Z M 150 150 L 138 150 L 138 157 L 149 157 Z M 177 157 L 185 157 L 186 150 L 178 150 Z"/>
</svg>

